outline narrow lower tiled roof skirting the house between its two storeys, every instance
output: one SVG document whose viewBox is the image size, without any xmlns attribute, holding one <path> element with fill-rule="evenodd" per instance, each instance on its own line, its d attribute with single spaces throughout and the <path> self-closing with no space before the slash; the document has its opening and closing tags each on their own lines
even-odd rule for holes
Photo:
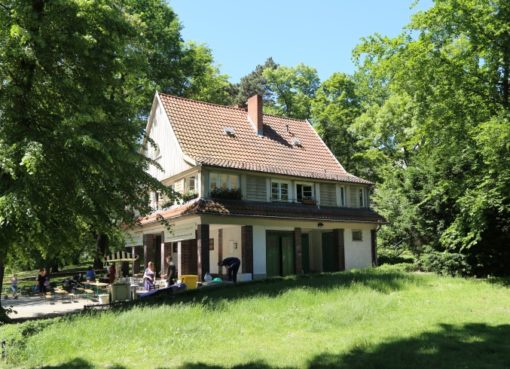
<svg viewBox="0 0 510 369">
<path fill-rule="evenodd" d="M 149 224 L 162 219 L 169 220 L 186 215 L 386 223 L 383 217 L 369 208 L 319 208 L 315 205 L 304 205 L 301 203 L 195 199 L 183 205 L 157 211 L 141 219 L 140 224 Z"/>
</svg>

